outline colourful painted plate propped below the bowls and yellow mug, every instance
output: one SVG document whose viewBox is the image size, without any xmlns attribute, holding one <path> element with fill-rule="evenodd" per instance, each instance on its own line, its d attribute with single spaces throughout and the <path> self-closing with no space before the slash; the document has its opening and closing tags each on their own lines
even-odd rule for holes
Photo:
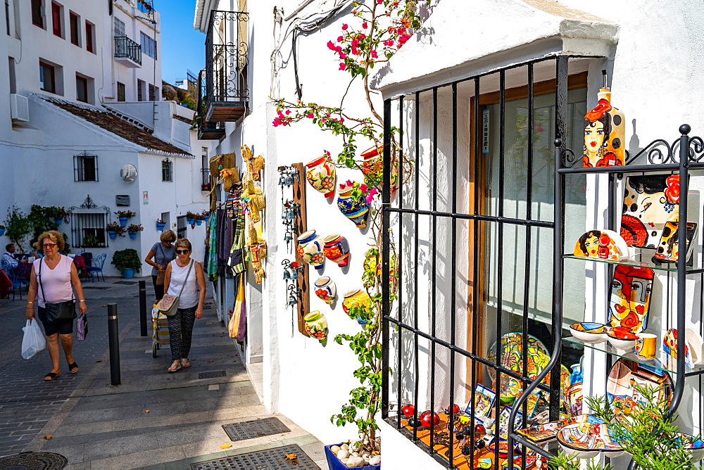
<svg viewBox="0 0 704 470">
<path fill-rule="evenodd" d="M 636 402 L 644 402 L 633 387 L 636 383 L 639 386 L 658 386 L 660 397 L 667 397 L 667 403 L 670 403 L 672 378 L 667 371 L 621 357 L 606 380 L 606 397 L 617 413 L 629 414 Z"/>
</svg>

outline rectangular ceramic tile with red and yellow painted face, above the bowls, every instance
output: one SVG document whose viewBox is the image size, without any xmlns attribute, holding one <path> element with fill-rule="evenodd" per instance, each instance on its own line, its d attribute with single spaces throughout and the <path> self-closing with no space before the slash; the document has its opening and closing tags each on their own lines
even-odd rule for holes
<svg viewBox="0 0 704 470">
<path fill-rule="evenodd" d="M 653 270 L 617 265 L 611 281 L 609 324 L 625 326 L 638 334 L 648 326 Z"/>
</svg>

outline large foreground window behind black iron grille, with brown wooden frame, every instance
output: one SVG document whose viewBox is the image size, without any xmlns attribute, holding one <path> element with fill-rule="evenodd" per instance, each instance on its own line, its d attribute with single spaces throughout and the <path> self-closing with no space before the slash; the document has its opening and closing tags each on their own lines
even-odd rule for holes
<svg viewBox="0 0 704 470">
<path fill-rule="evenodd" d="M 381 279 L 398 280 L 382 290 L 382 414 L 447 468 L 458 464 L 455 458 L 465 462 L 458 448 L 432 452 L 446 437 L 421 436 L 407 425 L 401 406 L 389 405 L 410 403 L 417 412 L 452 404 L 465 409 L 478 406 L 479 385 L 494 390 L 489 411 L 499 417 L 503 401 L 513 400 L 536 375 L 527 365 L 529 348 L 541 350 L 543 367 L 548 362 L 562 334 L 562 325 L 553 326 L 553 141 L 582 148 L 582 133 L 573 130 L 584 127 L 591 60 L 529 61 L 384 103 L 384 158 L 391 160 L 396 127 L 394 146 L 415 165 L 394 182 L 393 198 L 391 171 L 384 172 L 389 190 L 383 199 Z M 584 180 L 565 184 L 570 213 L 584 220 Z M 566 227 L 575 231 L 568 240 L 582 234 L 577 225 Z M 584 269 L 565 265 L 565 279 L 572 279 L 576 291 L 584 291 Z M 567 322 L 570 315 L 581 322 L 584 296 L 567 297 L 559 300 Z M 509 350 L 507 343 L 517 346 Z M 566 371 L 581 354 L 563 345 L 553 370 Z M 564 378 L 553 373 L 540 384 L 517 427 L 540 412 L 557 419 Z M 474 439 L 466 442 L 474 455 Z M 496 452 L 498 462 L 498 445 Z"/>
</svg>

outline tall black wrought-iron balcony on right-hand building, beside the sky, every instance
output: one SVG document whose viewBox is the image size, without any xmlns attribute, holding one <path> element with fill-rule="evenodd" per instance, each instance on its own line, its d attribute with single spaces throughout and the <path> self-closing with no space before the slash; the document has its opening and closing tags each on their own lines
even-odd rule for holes
<svg viewBox="0 0 704 470">
<path fill-rule="evenodd" d="M 249 13 L 220 11 L 210 13 L 206 37 L 207 122 L 232 122 L 248 108 L 247 53 Z"/>
</svg>

